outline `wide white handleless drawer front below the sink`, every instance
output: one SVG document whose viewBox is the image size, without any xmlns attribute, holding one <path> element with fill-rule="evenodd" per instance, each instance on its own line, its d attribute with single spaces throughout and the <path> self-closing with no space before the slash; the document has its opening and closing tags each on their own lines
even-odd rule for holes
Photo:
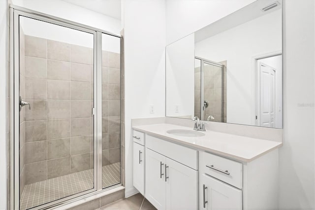
<svg viewBox="0 0 315 210">
<path fill-rule="evenodd" d="M 146 135 L 146 147 L 194 170 L 198 170 L 198 151 L 194 149 L 150 135 Z"/>
</svg>

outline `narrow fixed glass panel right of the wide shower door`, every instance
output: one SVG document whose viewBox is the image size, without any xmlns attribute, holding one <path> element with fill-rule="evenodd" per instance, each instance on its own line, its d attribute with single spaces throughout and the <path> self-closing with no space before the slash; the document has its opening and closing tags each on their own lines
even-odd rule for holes
<svg viewBox="0 0 315 210">
<path fill-rule="evenodd" d="M 102 34 L 102 188 L 121 182 L 120 38 Z"/>
</svg>

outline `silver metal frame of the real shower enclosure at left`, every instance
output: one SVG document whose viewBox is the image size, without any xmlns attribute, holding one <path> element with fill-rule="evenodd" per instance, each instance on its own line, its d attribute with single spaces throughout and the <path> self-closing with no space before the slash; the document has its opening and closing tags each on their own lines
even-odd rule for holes
<svg viewBox="0 0 315 210">
<path fill-rule="evenodd" d="M 92 114 L 94 115 L 94 187 L 90 190 L 86 190 L 71 196 L 67 196 L 56 201 L 48 202 L 46 204 L 32 208 L 32 210 L 56 207 L 58 205 L 70 203 L 75 198 L 80 199 L 87 198 L 99 192 L 107 191 L 109 189 L 123 185 L 122 170 L 120 170 L 120 183 L 115 184 L 108 188 L 102 188 L 102 34 L 116 36 L 121 39 L 120 47 L 122 48 L 122 36 L 116 35 L 104 30 L 100 30 L 94 27 L 86 26 L 76 22 L 68 21 L 55 16 L 47 15 L 23 7 L 9 5 L 10 9 L 10 65 L 9 65 L 9 126 L 10 126 L 10 208 L 20 208 L 20 173 L 19 173 L 19 96 L 20 96 L 20 84 L 19 84 L 19 63 L 20 63 L 20 50 L 19 50 L 19 17 L 27 17 L 46 23 L 59 25 L 73 30 L 78 30 L 93 34 L 94 37 L 94 107 L 92 108 Z M 122 52 L 121 52 L 122 55 Z M 122 62 L 121 62 L 122 63 Z M 122 68 L 122 65 L 121 65 Z M 122 69 L 120 69 L 122 72 Z M 121 113 L 121 118 L 123 117 Z M 121 124 L 121 123 L 120 123 Z M 122 135 L 121 135 L 122 136 Z M 120 150 L 122 157 L 122 148 Z M 71 201 L 70 201 L 71 200 Z"/>
</svg>

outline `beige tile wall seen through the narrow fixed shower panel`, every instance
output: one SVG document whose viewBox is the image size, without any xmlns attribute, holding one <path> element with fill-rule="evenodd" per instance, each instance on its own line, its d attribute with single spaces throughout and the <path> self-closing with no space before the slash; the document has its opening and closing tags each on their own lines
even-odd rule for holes
<svg viewBox="0 0 315 210">
<path fill-rule="evenodd" d="M 102 165 L 120 162 L 120 54 L 102 51 Z"/>
</svg>

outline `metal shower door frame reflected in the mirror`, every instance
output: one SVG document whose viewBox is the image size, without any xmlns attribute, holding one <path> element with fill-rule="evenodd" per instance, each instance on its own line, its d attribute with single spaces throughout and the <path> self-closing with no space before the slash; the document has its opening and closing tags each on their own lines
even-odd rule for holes
<svg viewBox="0 0 315 210">
<path fill-rule="evenodd" d="M 222 101 L 224 99 L 224 91 L 223 91 L 223 84 L 224 84 L 224 77 L 223 77 L 223 73 L 224 73 L 224 65 L 223 64 L 220 64 L 220 63 L 217 63 L 217 62 L 214 62 L 214 61 L 209 61 L 209 60 L 206 60 L 204 58 L 200 58 L 200 57 L 197 57 L 195 56 L 195 59 L 198 59 L 200 60 L 200 74 L 201 74 L 201 87 L 200 87 L 200 120 L 206 120 L 204 119 L 204 112 L 205 110 L 203 110 L 203 107 L 204 107 L 204 65 L 205 64 L 208 64 L 208 65 L 213 65 L 213 66 L 216 66 L 216 67 L 220 67 L 221 68 L 221 71 L 222 71 L 222 95 L 221 95 L 221 98 L 222 98 Z M 223 105 L 223 102 L 221 102 L 221 121 L 223 121 L 223 116 L 224 116 L 224 105 Z"/>
</svg>

